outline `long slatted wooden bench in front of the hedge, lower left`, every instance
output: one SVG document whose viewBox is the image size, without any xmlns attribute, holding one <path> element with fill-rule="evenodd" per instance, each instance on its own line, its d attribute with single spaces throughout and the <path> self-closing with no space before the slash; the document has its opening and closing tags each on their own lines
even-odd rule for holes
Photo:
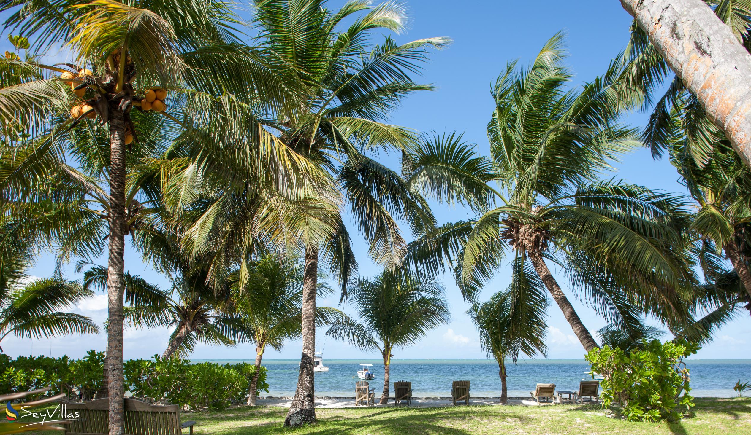
<svg viewBox="0 0 751 435">
<path fill-rule="evenodd" d="M 68 414 L 80 414 L 80 420 L 73 420 L 65 428 L 65 434 L 109 434 L 109 398 L 97 399 L 86 404 L 65 404 L 65 408 Z M 177 405 L 152 405 L 135 399 L 125 399 L 126 435 L 181 435 L 182 429 L 185 428 L 189 428 L 192 435 L 193 425 L 195 422 L 180 423 L 180 410 Z"/>
</svg>

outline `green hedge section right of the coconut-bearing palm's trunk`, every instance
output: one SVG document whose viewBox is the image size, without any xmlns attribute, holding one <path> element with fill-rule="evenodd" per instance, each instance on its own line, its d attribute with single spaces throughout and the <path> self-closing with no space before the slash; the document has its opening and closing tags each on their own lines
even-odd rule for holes
<svg viewBox="0 0 751 435">
<path fill-rule="evenodd" d="M 255 365 L 191 364 L 183 359 L 131 359 L 125 362 L 125 385 L 133 395 L 156 404 L 187 405 L 193 409 L 222 409 L 248 395 Z M 268 392 L 266 368 L 261 367 L 258 391 Z"/>
</svg>

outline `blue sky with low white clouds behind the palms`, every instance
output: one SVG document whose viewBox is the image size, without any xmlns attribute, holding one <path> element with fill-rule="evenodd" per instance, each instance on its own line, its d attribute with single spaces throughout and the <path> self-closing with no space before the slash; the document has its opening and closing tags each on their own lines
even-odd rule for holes
<svg viewBox="0 0 751 435">
<path fill-rule="evenodd" d="M 339 7 L 343 1 L 330 0 L 330 7 Z M 592 80 L 602 74 L 608 63 L 625 46 L 629 36 L 631 17 L 615 0 L 577 0 L 577 1 L 445 1 L 412 0 L 407 3 L 411 24 L 409 31 L 394 35 L 397 42 L 423 37 L 448 36 L 454 43 L 447 49 L 434 52 L 432 62 L 425 65 L 424 83 L 437 86 L 435 92 L 423 92 L 409 98 L 400 110 L 394 113 L 392 122 L 417 130 L 428 132 L 459 131 L 464 132 L 468 142 L 478 145 L 478 150 L 487 154 L 487 121 L 493 109 L 490 98 L 490 85 L 505 64 L 520 58 L 522 64 L 528 63 L 545 43 L 557 31 L 568 34 L 567 41 L 570 57 L 569 65 L 576 73 L 573 86 Z M 8 48 L 7 33 L 2 35 L 0 50 Z M 626 121 L 643 125 L 647 115 L 634 113 Z M 383 157 L 386 163 L 397 164 L 396 157 Z M 394 166 L 396 167 L 396 166 Z M 626 181 L 644 186 L 685 193 L 678 183 L 678 174 L 667 160 L 655 161 L 647 150 L 641 149 L 626 156 L 617 164 L 617 172 L 608 174 Z M 433 210 L 440 222 L 448 222 L 468 217 L 468 212 L 461 208 L 436 206 Z M 352 226 L 354 228 L 354 226 Z M 352 231 L 354 233 L 354 231 Z M 379 272 L 366 258 L 366 245 L 355 238 L 356 254 L 360 263 L 360 275 L 370 277 Z M 101 260 L 104 263 L 104 259 Z M 139 255 L 128 249 L 126 252 L 127 269 L 142 275 L 149 281 L 168 287 L 166 278 L 153 272 L 140 262 Z M 43 257 L 31 270 L 32 275 L 47 276 L 53 269 L 50 257 Z M 70 268 L 69 268 L 70 270 Z M 562 271 L 553 271 L 560 283 L 567 290 L 567 282 Z M 499 272 L 484 290 L 483 299 L 492 293 L 503 290 L 508 285 L 508 268 Z M 70 278 L 80 278 L 73 274 Z M 451 303 L 453 321 L 432 332 L 418 344 L 394 352 L 397 359 L 463 359 L 482 358 L 475 329 L 464 312 L 469 308 L 457 291 L 450 276 L 443 278 L 448 300 Z M 569 299 L 575 305 L 585 326 L 591 332 L 605 326 L 593 310 L 575 300 L 571 292 Z M 334 306 L 338 298 L 321 300 L 319 305 Z M 351 312 L 350 308 L 343 308 Z M 97 320 L 106 316 L 106 299 L 98 295 L 76 308 Z M 549 357 L 553 359 L 579 359 L 584 349 L 573 335 L 569 324 L 560 314 L 556 305 L 550 307 L 548 319 L 550 329 L 547 335 Z M 737 358 L 751 359 L 751 347 L 747 340 L 751 332 L 748 317 L 740 317 L 734 323 L 725 326 L 716 341 L 704 347 L 698 358 Z M 125 357 L 146 358 L 161 353 L 167 344 L 168 332 L 162 329 L 139 331 L 131 330 L 125 335 Z M 104 350 L 104 334 L 98 336 L 56 338 L 54 340 L 20 341 L 6 338 L 3 349 L 11 355 L 38 355 L 63 353 L 71 357 L 80 357 L 88 349 Z M 318 332 L 318 349 L 324 350 L 327 359 L 376 358 L 373 353 L 363 353 L 347 344 L 333 340 L 324 340 L 323 332 Z M 300 356 L 300 343 L 289 342 L 281 353 L 270 350 L 264 356 L 267 359 L 297 359 Z M 193 354 L 193 359 L 252 359 L 254 348 L 240 344 L 234 348 L 200 346 Z"/>
</svg>

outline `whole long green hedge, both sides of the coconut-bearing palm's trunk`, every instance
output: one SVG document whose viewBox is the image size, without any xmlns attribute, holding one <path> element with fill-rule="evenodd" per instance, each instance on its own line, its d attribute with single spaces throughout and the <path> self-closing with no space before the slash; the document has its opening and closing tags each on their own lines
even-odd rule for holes
<svg viewBox="0 0 751 435">
<path fill-rule="evenodd" d="M 83 359 L 67 356 L 19 356 L 0 354 L 0 392 L 25 392 L 47 386 L 46 395 L 64 392 L 82 401 L 94 398 L 103 383 L 104 352 L 89 350 Z M 255 365 L 191 364 L 187 359 L 131 359 L 125 362 L 125 386 L 134 397 L 156 404 L 179 404 L 193 409 L 221 409 L 242 402 L 248 395 Z M 258 376 L 258 392 L 269 391 L 266 368 Z M 32 398 L 35 400 L 36 398 Z"/>
</svg>

